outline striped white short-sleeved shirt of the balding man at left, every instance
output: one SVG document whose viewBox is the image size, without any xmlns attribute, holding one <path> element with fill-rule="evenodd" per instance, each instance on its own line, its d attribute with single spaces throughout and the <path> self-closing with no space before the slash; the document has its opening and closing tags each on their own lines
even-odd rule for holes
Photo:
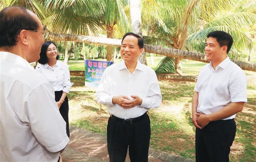
<svg viewBox="0 0 256 162">
<path fill-rule="evenodd" d="M 22 57 L 0 52 L 0 59 L 1 161 L 58 161 L 69 138 L 53 87 Z"/>
</svg>

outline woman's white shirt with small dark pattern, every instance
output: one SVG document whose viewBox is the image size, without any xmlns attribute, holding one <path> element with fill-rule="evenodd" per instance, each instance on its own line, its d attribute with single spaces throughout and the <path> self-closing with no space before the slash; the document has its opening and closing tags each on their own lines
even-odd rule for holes
<svg viewBox="0 0 256 162">
<path fill-rule="evenodd" d="M 38 64 L 36 71 L 43 74 L 46 79 L 53 86 L 54 91 L 61 91 L 69 93 L 71 83 L 70 83 L 70 74 L 69 68 L 66 63 L 57 60 L 56 64 L 50 67 L 47 63 L 42 65 Z"/>
</svg>

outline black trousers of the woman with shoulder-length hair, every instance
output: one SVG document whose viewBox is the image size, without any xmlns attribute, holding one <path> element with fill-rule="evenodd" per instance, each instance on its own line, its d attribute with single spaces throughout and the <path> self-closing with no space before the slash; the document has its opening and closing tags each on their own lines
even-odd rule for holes
<svg viewBox="0 0 256 162">
<path fill-rule="evenodd" d="M 55 101 L 56 102 L 60 100 L 62 92 L 63 92 L 62 90 L 61 91 L 55 91 Z M 63 117 L 63 119 L 66 122 L 66 131 L 67 131 L 67 135 L 69 137 L 70 134 L 69 134 L 69 123 L 68 123 L 68 109 L 69 109 L 69 107 L 68 107 L 68 97 L 66 96 L 65 101 L 60 106 L 59 111 L 60 111 L 61 116 Z"/>
</svg>

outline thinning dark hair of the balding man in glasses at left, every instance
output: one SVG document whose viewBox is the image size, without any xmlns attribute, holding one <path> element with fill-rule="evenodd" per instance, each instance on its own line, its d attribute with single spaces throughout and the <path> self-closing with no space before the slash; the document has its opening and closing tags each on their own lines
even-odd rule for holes
<svg viewBox="0 0 256 162">
<path fill-rule="evenodd" d="M 12 48 L 17 44 L 21 30 L 37 30 L 39 24 L 22 6 L 10 6 L 0 11 L 0 47 Z"/>
</svg>

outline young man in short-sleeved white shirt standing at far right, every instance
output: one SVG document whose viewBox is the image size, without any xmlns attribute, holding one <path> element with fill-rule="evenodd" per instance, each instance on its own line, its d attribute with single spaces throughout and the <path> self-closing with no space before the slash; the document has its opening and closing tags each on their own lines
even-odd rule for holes
<svg viewBox="0 0 256 162">
<path fill-rule="evenodd" d="M 236 113 L 247 102 L 244 71 L 227 56 L 233 38 L 223 31 L 208 34 L 207 60 L 198 76 L 192 98 L 196 127 L 196 162 L 228 162 L 236 135 Z"/>
</svg>

